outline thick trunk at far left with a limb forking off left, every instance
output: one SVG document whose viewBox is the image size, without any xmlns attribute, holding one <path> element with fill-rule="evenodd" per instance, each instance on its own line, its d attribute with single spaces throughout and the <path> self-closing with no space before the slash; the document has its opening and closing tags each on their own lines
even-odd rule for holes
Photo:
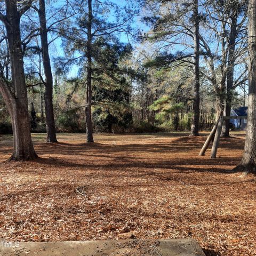
<svg viewBox="0 0 256 256">
<path fill-rule="evenodd" d="M 24 161 L 37 158 L 30 134 L 28 97 L 23 66 L 23 52 L 20 36 L 20 13 L 17 1 L 6 3 L 6 34 L 12 73 L 12 90 L 3 81 L 0 91 L 12 120 L 13 153 L 10 160 Z"/>
</svg>

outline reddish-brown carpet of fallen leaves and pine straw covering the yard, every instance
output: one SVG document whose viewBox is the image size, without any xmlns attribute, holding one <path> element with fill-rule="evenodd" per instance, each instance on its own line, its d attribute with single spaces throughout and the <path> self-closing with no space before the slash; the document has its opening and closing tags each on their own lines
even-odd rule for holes
<svg viewBox="0 0 256 256">
<path fill-rule="evenodd" d="M 183 137 L 182 137 L 183 135 Z M 221 139 L 220 157 L 199 157 L 206 137 L 186 134 L 59 134 L 41 159 L 5 162 L 0 138 L 0 241 L 195 238 L 207 255 L 256 255 L 256 178 L 228 173 L 243 137 Z M 77 189 L 78 188 L 78 189 Z M 82 194 L 78 193 L 76 189 Z"/>
</svg>

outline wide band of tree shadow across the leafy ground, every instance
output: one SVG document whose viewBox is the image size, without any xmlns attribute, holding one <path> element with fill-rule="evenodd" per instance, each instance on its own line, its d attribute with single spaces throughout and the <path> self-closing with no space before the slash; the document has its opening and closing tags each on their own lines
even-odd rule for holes
<svg viewBox="0 0 256 256">
<path fill-rule="evenodd" d="M 168 180 L 170 175 L 177 173 L 215 172 L 234 173 L 241 158 L 228 157 L 235 149 L 243 149 L 244 140 L 240 138 L 222 138 L 221 150 L 226 156 L 210 159 L 198 157 L 205 138 L 180 137 L 170 141 L 146 141 L 146 143 L 103 144 L 103 143 L 39 143 L 36 151 L 41 158 L 36 162 L 51 167 L 71 167 L 77 169 L 113 170 L 113 175 L 120 175 L 120 170 L 134 172 L 137 175 L 149 174 L 150 170 L 161 169 L 161 177 Z M 234 146 L 235 145 L 235 146 Z M 2 154 L 8 154 L 10 149 L 1 149 Z M 162 157 L 163 154 L 170 154 Z M 49 157 L 50 155 L 50 157 Z M 59 157 L 60 156 L 60 157 Z M 95 158 L 96 161 L 95 161 Z M 166 159 L 167 158 L 167 159 Z M 222 167 L 226 166 L 226 167 Z M 230 169 L 227 169 L 230 166 Z M 138 168 L 140 170 L 138 170 Z M 166 172 L 163 172 L 166 170 Z M 116 173 L 118 171 L 118 173 Z M 154 172 L 154 175 L 157 172 Z M 102 175 L 102 173 L 101 173 Z"/>
</svg>

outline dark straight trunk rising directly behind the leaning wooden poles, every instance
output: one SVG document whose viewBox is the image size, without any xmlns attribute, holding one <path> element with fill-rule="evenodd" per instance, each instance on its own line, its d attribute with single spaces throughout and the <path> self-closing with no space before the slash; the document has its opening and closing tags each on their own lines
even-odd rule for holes
<svg viewBox="0 0 256 256">
<path fill-rule="evenodd" d="M 237 9 L 236 9 L 237 10 Z M 225 106 L 225 115 L 230 116 L 233 98 L 234 64 L 235 64 L 235 45 L 236 45 L 236 27 L 237 12 L 233 12 L 231 17 L 231 27 L 228 45 L 228 71 L 227 71 L 227 97 Z M 229 137 L 229 119 L 224 121 L 221 137 Z"/>
</svg>

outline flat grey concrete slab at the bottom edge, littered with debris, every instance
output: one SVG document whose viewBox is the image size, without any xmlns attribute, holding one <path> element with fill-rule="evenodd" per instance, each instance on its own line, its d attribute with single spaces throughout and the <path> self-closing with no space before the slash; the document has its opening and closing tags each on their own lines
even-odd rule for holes
<svg viewBox="0 0 256 256">
<path fill-rule="evenodd" d="M 0 244 L 1 256 L 205 256 L 195 239 Z M 12 247 L 6 247 L 12 246 Z"/>
</svg>

